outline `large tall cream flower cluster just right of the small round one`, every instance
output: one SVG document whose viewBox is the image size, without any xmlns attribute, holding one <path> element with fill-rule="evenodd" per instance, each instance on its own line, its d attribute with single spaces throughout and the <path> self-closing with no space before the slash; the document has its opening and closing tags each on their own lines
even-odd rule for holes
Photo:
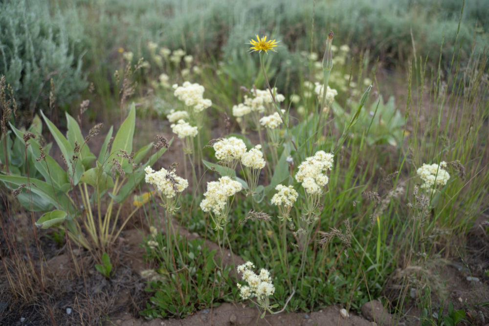
<svg viewBox="0 0 489 326">
<path fill-rule="evenodd" d="M 331 170 L 332 167 L 333 154 L 318 151 L 299 165 L 299 172 L 295 174 L 295 179 L 302 182 L 306 193 L 320 195 L 322 188 L 329 181 L 326 171 Z"/>
</svg>

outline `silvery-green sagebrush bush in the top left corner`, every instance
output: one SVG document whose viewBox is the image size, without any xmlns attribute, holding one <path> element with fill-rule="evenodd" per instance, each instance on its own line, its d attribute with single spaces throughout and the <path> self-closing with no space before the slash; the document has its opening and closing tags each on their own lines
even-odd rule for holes
<svg viewBox="0 0 489 326">
<path fill-rule="evenodd" d="M 87 87 L 82 71 L 83 26 L 75 11 L 47 1 L 6 0 L 0 10 L 0 74 L 16 100 L 30 109 L 49 98 L 50 79 L 60 105 Z M 52 11 L 52 12 L 51 12 Z"/>
</svg>

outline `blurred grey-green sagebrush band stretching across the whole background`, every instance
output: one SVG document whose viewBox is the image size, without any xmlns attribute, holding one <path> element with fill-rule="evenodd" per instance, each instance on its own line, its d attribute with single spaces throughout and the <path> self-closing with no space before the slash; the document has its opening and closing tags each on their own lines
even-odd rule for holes
<svg viewBox="0 0 489 326">
<path fill-rule="evenodd" d="M 1 6 L 0 74 L 27 120 L 46 107 L 51 78 L 62 109 L 80 100 L 89 82 L 101 105 L 112 106 L 118 50 L 148 58 L 150 41 L 182 48 L 197 63 L 222 62 L 243 85 L 257 75 L 233 68 L 253 60 L 244 43 L 257 33 L 271 34 L 281 41 L 273 68 L 282 84 L 277 86 L 284 88 L 286 75 L 299 69 L 299 52 L 309 49 L 321 57 L 330 29 L 336 44 L 349 44 L 354 57 L 379 61 L 387 71 L 406 69 L 413 55 L 438 63 L 440 51 L 446 71 L 457 31 L 460 62 L 468 60 L 474 45 L 475 54 L 481 53 L 489 35 L 485 0 L 466 1 L 462 17 L 460 0 L 5 0 Z M 288 87 L 294 90 L 293 85 Z"/>
</svg>

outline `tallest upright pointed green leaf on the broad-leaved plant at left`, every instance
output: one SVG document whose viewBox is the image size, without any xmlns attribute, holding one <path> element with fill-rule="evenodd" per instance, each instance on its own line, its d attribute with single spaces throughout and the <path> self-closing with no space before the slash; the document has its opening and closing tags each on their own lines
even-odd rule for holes
<svg viewBox="0 0 489 326">
<path fill-rule="evenodd" d="M 136 109 L 133 105 L 131 106 L 131 110 L 129 111 L 129 115 L 122 123 L 121 127 L 117 131 L 114 137 L 114 141 L 112 143 L 111 155 L 109 156 L 109 161 L 112 158 L 115 158 L 122 164 L 122 169 L 126 171 L 128 167 L 132 170 L 131 164 L 127 161 L 127 159 L 123 159 L 122 157 L 118 157 L 115 154 L 119 150 L 124 150 L 128 153 L 131 153 L 133 150 L 133 136 L 134 136 L 134 128 L 135 128 L 135 119 L 136 119 Z M 131 171 L 129 170 L 129 171 Z"/>
</svg>

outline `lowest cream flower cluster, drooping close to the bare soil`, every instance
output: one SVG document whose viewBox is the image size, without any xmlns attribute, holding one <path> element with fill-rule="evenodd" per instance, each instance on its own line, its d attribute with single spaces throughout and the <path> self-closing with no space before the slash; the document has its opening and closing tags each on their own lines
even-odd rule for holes
<svg viewBox="0 0 489 326">
<path fill-rule="evenodd" d="M 265 299 L 273 295 L 275 286 L 272 284 L 270 273 L 265 268 L 262 268 L 260 274 L 257 275 L 253 272 L 253 268 L 255 268 L 255 264 L 251 261 L 246 261 L 237 268 L 238 273 L 243 274 L 243 280 L 248 283 L 248 285 L 236 284 L 240 290 L 241 298 L 244 300 L 253 297 Z"/>
</svg>

